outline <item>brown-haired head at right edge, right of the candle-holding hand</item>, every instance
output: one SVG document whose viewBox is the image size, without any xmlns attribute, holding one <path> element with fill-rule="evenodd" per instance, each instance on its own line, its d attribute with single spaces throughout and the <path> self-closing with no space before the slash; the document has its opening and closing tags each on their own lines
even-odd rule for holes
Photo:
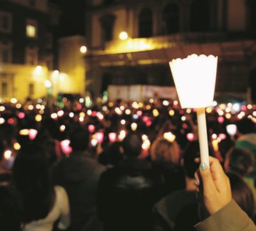
<svg viewBox="0 0 256 231">
<path fill-rule="evenodd" d="M 254 158 L 253 154 L 240 147 L 233 147 L 226 154 L 224 168 L 226 171 L 236 172 L 241 176 L 245 176 L 252 172 Z"/>
</svg>

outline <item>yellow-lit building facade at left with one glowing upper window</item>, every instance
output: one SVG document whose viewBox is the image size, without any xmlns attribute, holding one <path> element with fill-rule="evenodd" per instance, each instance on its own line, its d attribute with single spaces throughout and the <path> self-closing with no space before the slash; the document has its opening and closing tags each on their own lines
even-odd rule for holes
<svg viewBox="0 0 256 231">
<path fill-rule="evenodd" d="M 54 70 L 51 29 L 56 22 L 49 8 L 48 0 L 0 1 L 1 98 L 23 101 L 47 94 L 44 83 Z"/>
</svg>

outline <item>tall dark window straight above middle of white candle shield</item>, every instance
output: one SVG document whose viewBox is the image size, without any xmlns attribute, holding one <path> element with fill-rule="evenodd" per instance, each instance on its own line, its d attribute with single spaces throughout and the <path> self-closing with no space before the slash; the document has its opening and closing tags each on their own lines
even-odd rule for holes
<svg viewBox="0 0 256 231">
<path fill-rule="evenodd" d="M 209 31 L 209 1 L 193 0 L 190 14 L 191 31 Z"/>
</svg>

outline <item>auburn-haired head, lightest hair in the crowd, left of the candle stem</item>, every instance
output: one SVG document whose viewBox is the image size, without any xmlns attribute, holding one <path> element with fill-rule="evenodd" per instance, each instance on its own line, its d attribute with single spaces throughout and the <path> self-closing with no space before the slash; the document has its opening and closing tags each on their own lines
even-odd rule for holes
<svg viewBox="0 0 256 231">
<path fill-rule="evenodd" d="M 151 160 L 156 162 L 172 162 L 179 163 L 181 158 L 181 149 L 176 141 L 170 142 L 169 140 L 159 137 L 154 140 L 151 149 Z"/>
</svg>

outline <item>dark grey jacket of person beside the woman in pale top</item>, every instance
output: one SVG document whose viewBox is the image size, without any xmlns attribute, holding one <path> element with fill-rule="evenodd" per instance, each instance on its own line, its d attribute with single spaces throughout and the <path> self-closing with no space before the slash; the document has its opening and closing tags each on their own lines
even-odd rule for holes
<svg viewBox="0 0 256 231">
<path fill-rule="evenodd" d="M 102 230 L 96 216 L 96 190 L 104 170 L 90 154 L 81 152 L 73 152 L 54 167 L 54 183 L 63 186 L 70 199 L 72 230 Z"/>
</svg>

